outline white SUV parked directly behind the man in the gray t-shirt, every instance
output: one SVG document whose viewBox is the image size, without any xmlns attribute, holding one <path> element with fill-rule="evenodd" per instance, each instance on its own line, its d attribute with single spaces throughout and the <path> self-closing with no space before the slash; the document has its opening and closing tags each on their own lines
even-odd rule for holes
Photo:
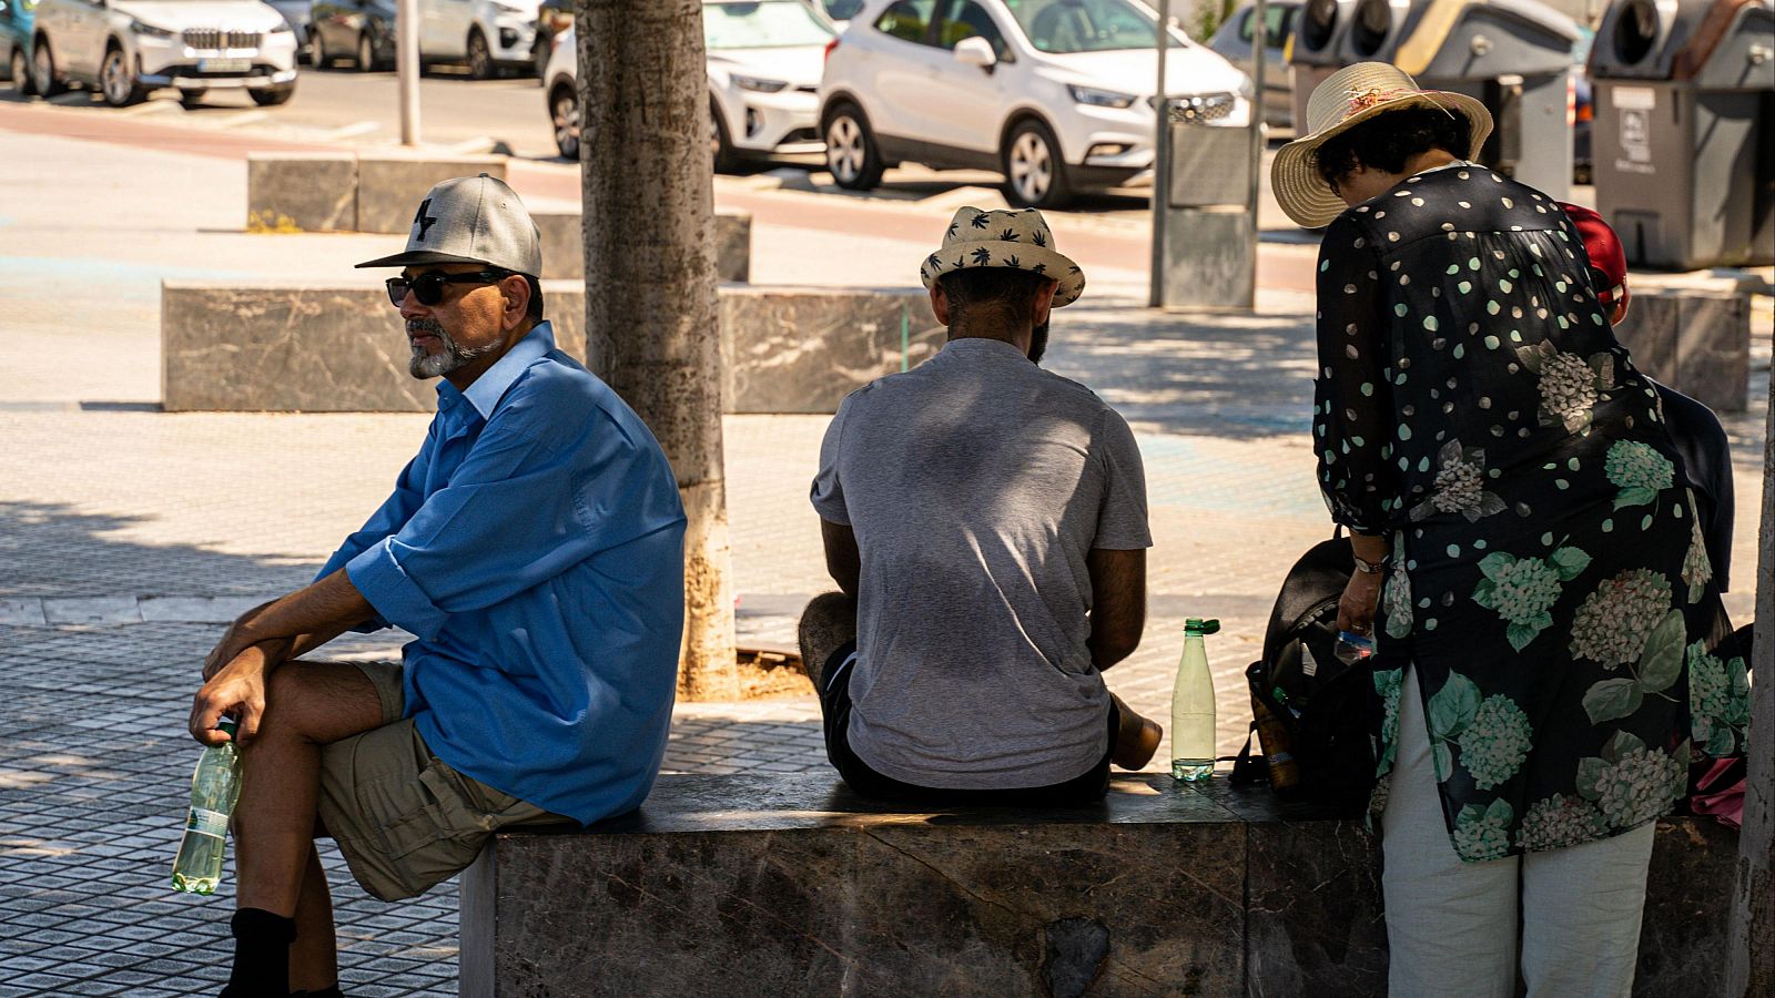
<svg viewBox="0 0 1775 998">
<path fill-rule="evenodd" d="M 1172 34 L 1166 89 L 1246 124 L 1251 80 Z M 1157 14 L 1132 0 L 870 0 L 827 51 L 825 163 L 868 190 L 900 162 L 1005 174 L 1015 204 L 1152 169 Z"/>
</svg>

